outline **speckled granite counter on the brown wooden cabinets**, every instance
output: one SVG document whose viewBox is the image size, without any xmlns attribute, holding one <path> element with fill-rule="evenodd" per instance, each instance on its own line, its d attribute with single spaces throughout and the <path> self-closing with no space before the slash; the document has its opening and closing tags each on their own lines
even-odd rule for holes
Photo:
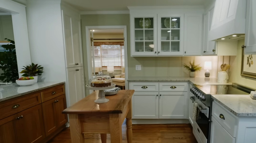
<svg viewBox="0 0 256 143">
<path fill-rule="evenodd" d="M 31 86 L 19 86 L 16 83 L 12 83 L 11 85 L 0 86 L 0 102 L 64 83 L 65 82 L 38 82 Z"/>
</svg>

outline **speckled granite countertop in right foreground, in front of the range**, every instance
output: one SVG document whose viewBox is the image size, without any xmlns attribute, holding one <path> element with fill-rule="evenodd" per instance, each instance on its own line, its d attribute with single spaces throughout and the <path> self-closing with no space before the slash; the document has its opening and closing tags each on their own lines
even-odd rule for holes
<svg viewBox="0 0 256 143">
<path fill-rule="evenodd" d="M 212 95 L 212 98 L 237 117 L 256 117 L 256 100 L 247 95 Z"/>
</svg>

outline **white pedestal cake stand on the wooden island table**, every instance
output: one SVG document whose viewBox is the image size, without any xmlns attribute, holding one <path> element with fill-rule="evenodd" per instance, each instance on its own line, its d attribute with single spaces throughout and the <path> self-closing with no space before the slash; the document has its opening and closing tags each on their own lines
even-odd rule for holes
<svg viewBox="0 0 256 143">
<path fill-rule="evenodd" d="M 86 85 L 85 87 L 90 90 L 99 90 L 98 99 L 96 99 L 94 102 L 95 103 L 105 103 L 105 102 L 108 102 L 109 99 L 105 98 L 104 90 L 114 88 L 114 87 L 116 87 L 116 84 L 111 84 L 111 86 L 109 86 L 109 87 L 91 87 L 89 85 Z"/>
</svg>

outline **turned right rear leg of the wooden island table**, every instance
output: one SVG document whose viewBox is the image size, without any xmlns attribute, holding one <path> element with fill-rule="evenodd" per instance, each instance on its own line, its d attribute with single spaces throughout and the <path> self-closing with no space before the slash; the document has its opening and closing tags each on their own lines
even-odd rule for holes
<svg viewBox="0 0 256 143">
<path fill-rule="evenodd" d="M 132 131 L 132 101 L 128 103 L 129 111 L 126 115 L 126 138 L 127 143 L 132 143 L 133 131 Z"/>
</svg>

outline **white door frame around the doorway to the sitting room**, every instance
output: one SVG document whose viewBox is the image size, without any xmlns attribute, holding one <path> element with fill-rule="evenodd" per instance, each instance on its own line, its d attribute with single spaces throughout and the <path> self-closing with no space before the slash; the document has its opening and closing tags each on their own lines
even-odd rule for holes
<svg viewBox="0 0 256 143">
<path fill-rule="evenodd" d="M 125 79 L 128 79 L 128 49 L 127 49 L 127 26 L 126 25 L 116 25 L 116 26 L 85 26 L 85 33 L 86 33 L 86 50 L 87 50 L 87 62 L 88 62 L 88 78 L 90 78 L 92 74 L 92 55 L 91 55 L 91 29 L 123 29 L 123 36 L 124 36 L 124 72 L 125 72 Z M 128 87 L 128 82 L 125 82 L 125 87 Z M 93 92 L 89 90 L 90 94 Z"/>
</svg>

